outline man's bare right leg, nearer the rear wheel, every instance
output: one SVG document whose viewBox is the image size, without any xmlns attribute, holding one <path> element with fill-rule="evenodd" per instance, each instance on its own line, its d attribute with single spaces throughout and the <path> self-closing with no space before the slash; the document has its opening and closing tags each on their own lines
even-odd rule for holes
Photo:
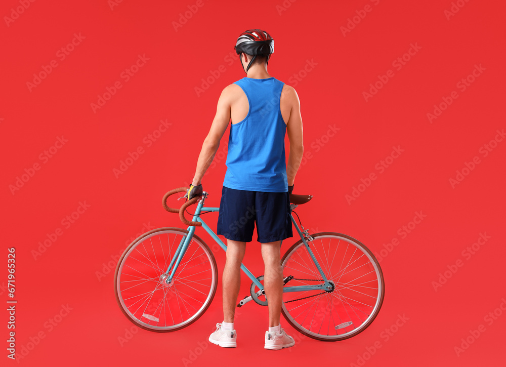
<svg viewBox="0 0 506 367">
<path fill-rule="evenodd" d="M 262 243 L 264 259 L 264 288 L 269 307 L 269 327 L 279 325 L 283 301 L 283 272 L 281 271 L 281 241 Z"/>
</svg>

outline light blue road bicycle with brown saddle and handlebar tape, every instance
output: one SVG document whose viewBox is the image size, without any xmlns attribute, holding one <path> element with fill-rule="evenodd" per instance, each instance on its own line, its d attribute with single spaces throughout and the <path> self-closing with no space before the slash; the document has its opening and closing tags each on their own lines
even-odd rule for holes
<svg viewBox="0 0 506 367">
<path fill-rule="evenodd" d="M 170 332 L 187 327 L 202 316 L 216 293 L 215 258 L 194 232 L 196 227 L 203 227 L 226 251 L 223 241 L 200 218 L 219 208 L 204 208 L 208 195 L 205 191 L 179 210 L 167 206 L 169 196 L 186 190 L 180 187 L 168 191 L 162 205 L 168 212 L 179 213 L 188 228 L 164 227 L 142 234 L 125 250 L 116 267 L 118 305 L 126 317 L 145 330 Z M 310 234 L 304 228 L 293 210 L 311 198 L 290 194 L 290 217 L 300 240 L 281 259 L 281 312 L 293 328 L 306 336 L 344 340 L 365 330 L 377 316 L 385 295 L 383 272 L 374 255 L 357 239 L 334 232 Z M 184 212 L 197 201 L 192 221 L 188 221 Z M 252 283 L 250 294 L 237 306 L 251 300 L 266 306 L 263 276 L 255 277 L 244 264 L 241 270 Z"/>
</svg>

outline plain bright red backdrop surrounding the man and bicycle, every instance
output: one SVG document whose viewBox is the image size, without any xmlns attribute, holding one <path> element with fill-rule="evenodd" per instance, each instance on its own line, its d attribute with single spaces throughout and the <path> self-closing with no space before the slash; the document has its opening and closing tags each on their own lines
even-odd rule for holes
<svg viewBox="0 0 506 367">
<path fill-rule="evenodd" d="M 29 7 L 18 8 L 23 9 L 18 17 L 12 15 L 21 3 Z M 480 152 L 496 130 L 504 129 L 504 2 L 460 0 L 456 3 L 463 7 L 451 16 L 445 15 L 452 8 L 450 0 L 345 3 L 2 3 L 0 264 L 5 265 L 0 266 L 0 292 L 7 301 L 7 249 L 14 247 L 16 347 L 18 353 L 31 349 L 21 364 L 362 365 L 365 358 L 371 366 L 474 366 L 504 360 L 506 316 L 500 306 L 506 305 L 506 142 L 493 144 L 486 157 Z M 370 12 L 360 21 L 355 18 L 358 24 L 344 35 L 341 27 L 348 18 L 364 15 L 366 5 Z M 186 18 L 191 9 L 196 12 Z M 174 22 L 184 24 L 176 29 Z M 298 210 L 303 224 L 313 232 L 352 235 L 377 254 L 392 238 L 399 240 L 383 252 L 383 308 L 366 331 L 335 343 L 300 338 L 282 321 L 297 344 L 271 352 L 263 349 L 267 309 L 247 304 L 236 319 L 238 347 L 226 350 L 206 343 L 215 323 L 222 321 L 220 284 L 208 311 L 190 327 L 164 334 L 132 329 L 114 299 L 114 268 L 107 264 L 115 265 L 145 224 L 182 226 L 177 216 L 163 211 L 161 197 L 193 177 L 222 89 L 244 76 L 233 54 L 235 40 L 245 29 L 257 27 L 268 30 L 276 42 L 269 72 L 296 88 L 301 99 L 305 150 L 311 155 L 298 173 L 296 192 L 314 195 Z M 85 38 L 61 60 L 58 50 L 74 33 Z M 411 44 L 421 48 L 397 70 L 393 62 Z M 149 60 L 126 81 L 121 73 L 138 55 Z M 52 60 L 57 66 L 30 91 L 27 83 L 34 83 L 33 74 Z M 312 66 L 305 73 L 308 61 Z M 475 65 L 485 69 L 465 91 L 459 90 L 457 83 Z M 389 69 L 394 75 L 366 101 L 363 92 Z M 202 78 L 217 76 L 216 70 L 220 75 L 196 92 L 203 87 Z M 94 111 L 91 104 L 116 81 L 121 88 Z M 434 113 L 434 104 L 452 91 L 458 98 L 431 123 L 427 113 Z M 161 119 L 172 125 L 148 147 L 143 139 L 158 129 Z M 328 134 L 329 125 L 339 132 Z M 65 145 L 41 159 L 62 136 L 68 140 Z M 138 146 L 144 153 L 115 175 L 113 169 Z M 216 167 L 203 180 L 209 205 L 219 203 L 224 146 L 222 142 Z M 393 147 L 404 151 L 380 173 L 375 166 Z M 475 156 L 480 163 L 452 187 L 450 179 Z M 30 171 L 36 163 L 39 170 Z M 13 190 L 10 185 L 25 170 L 32 177 L 24 176 L 26 182 Z M 360 186 L 363 192 L 355 192 L 358 197 L 349 203 L 345 195 L 352 195 L 371 173 L 376 179 Z M 67 228 L 62 220 L 80 202 L 89 208 Z M 416 212 L 426 217 L 402 238 L 398 230 Z M 212 228 L 216 219 L 205 217 Z M 39 241 L 58 228 L 57 240 L 36 255 Z M 474 255 L 462 253 L 480 233 L 490 238 L 475 245 L 479 250 Z M 199 234 L 212 244 L 203 231 Z M 282 252 L 290 244 L 283 243 Z M 221 274 L 224 253 L 215 254 Z M 440 273 L 459 260 L 462 266 L 453 266 L 456 272 L 447 272 L 451 277 L 435 290 Z M 245 264 L 262 274 L 258 244 L 248 245 Z M 249 284 L 244 278 L 241 298 Z M 48 322 L 67 304 L 72 309 L 50 330 Z M 487 316 L 494 310 L 495 319 Z M 2 315 L 5 341 L 9 315 Z M 398 315 L 408 320 L 392 328 Z M 473 341 L 470 331 L 480 325 L 482 332 Z M 385 329 L 395 330 L 388 340 Z M 44 338 L 28 344 L 40 332 Z M 467 337 L 472 343 L 457 355 L 454 347 Z M 2 359 L 17 364 L 2 350 Z"/>
</svg>

